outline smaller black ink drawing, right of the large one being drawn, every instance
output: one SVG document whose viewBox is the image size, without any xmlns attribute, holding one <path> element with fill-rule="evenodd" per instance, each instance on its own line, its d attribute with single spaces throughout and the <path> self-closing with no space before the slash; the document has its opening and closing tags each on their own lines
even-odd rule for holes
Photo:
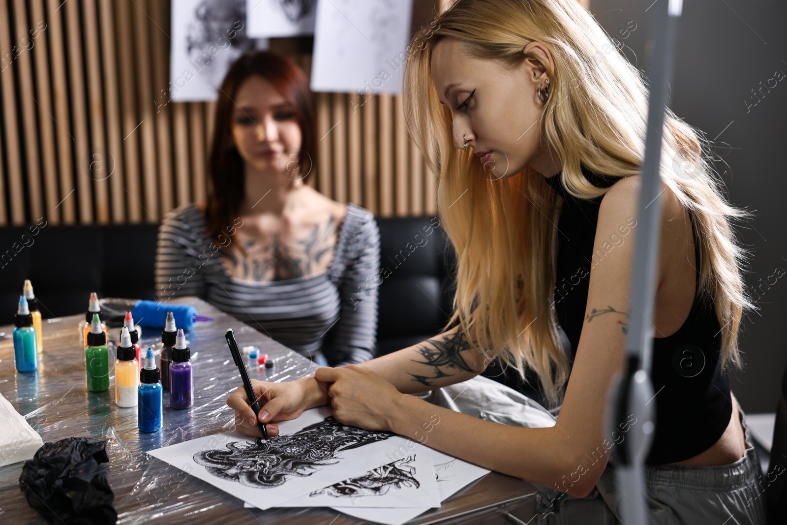
<svg viewBox="0 0 787 525">
<path fill-rule="evenodd" d="M 315 490 L 309 496 L 326 494 L 332 497 L 365 497 L 383 496 L 391 487 L 401 489 L 403 486 L 419 488 L 416 479 L 416 468 L 411 465 L 416 460 L 415 454 L 392 461 L 382 467 L 374 468 L 366 474 L 345 479 L 324 489 Z"/>
</svg>

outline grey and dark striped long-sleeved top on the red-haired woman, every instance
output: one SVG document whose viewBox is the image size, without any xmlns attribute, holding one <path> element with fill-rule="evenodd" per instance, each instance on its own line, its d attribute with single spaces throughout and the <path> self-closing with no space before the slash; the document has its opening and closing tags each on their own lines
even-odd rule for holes
<svg viewBox="0 0 787 525">
<path fill-rule="evenodd" d="M 360 363 L 375 355 L 379 237 L 374 215 L 349 203 L 327 268 L 260 283 L 230 275 L 201 211 L 182 205 L 158 232 L 156 296 L 196 295 L 312 360 Z"/>
</svg>

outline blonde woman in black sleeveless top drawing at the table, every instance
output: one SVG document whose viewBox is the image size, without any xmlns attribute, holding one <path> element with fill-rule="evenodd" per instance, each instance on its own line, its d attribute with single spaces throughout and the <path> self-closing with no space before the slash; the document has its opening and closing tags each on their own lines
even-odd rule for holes
<svg viewBox="0 0 787 525">
<path fill-rule="evenodd" d="M 260 420 L 275 434 L 276 421 L 330 403 L 342 423 L 418 438 L 437 413 L 428 446 L 536 484 L 538 523 L 618 523 L 625 494 L 609 450 L 630 427 L 608 435 L 603 415 L 623 369 L 644 80 L 602 51 L 608 35 L 575 0 L 459 0 L 429 31 L 406 64 L 405 115 L 439 174 L 458 257 L 452 322 L 363 364 L 257 383 Z M 655 523 L 763 523 L 758 460 L 726 375 L 741 363 L 737 331 L 753 308 L 731 229 L 746 212 L 722 197 L 703 141 L 667 112 L 646 498 Z M 538 373 L 560 407 L 553 427 L 408 395 L 474 378 L 498 356 Z M 227 403 L 238 429 L 259 435 L 242 389 Z"/>
</svg>

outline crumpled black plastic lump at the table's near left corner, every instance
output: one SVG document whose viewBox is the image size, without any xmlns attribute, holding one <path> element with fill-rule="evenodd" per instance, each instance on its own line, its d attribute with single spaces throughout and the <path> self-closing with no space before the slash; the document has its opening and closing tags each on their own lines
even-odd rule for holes
<svg viewBox="0 0 787 525">
<path fill-rule="evenodd" d="M 78 476 L 109 461 L 106 442 L 92 438 L 65 438 L 44 443 L 35 457 L 24 462 L 19 484 L 28 504 L 53 523 L 87 525 L 117 521 L 112 506 L 115 494 L 104 473 L 90 481 Z"/>
</svg>

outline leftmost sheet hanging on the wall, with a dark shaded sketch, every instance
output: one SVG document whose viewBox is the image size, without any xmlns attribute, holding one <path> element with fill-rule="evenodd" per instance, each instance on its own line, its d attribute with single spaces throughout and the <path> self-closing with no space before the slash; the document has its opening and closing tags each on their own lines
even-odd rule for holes
<svg viewBox="0 0 787 525">
<path fill-rule="evenodd" d="M 227 69 L 244 51 L 266 49 L 268 40 L 249 37 L 246 0 L 172 0 L 168 102 L 215 100 Z"/>
</svg>

